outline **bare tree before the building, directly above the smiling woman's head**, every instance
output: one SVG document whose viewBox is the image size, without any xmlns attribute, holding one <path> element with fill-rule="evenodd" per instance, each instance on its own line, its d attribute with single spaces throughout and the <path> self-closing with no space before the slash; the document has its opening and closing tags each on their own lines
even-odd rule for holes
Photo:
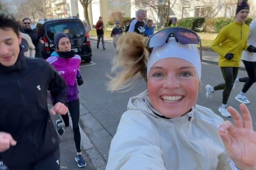
<svg viewBox="0 0 256 170">
<path fill-rule="evenodd" d="M 148 1 L 148 0 L 133 0 L 133 2 L 131 2 L 131 4 L 135 5 L 136 7 L 139 7 L 139 8 L 144 8 L 144 9 L 149 8 L 149 9 L 158 11 L 162 16 L 162 19 L 164 21 L 164 26 L 167 25 L 168 16 L 170 14 L 170 6 L 171 6 L 170 0 L 162 0 L 161 3 L 158 0 L 150 0 L 150 1 Z"/>
</svg>

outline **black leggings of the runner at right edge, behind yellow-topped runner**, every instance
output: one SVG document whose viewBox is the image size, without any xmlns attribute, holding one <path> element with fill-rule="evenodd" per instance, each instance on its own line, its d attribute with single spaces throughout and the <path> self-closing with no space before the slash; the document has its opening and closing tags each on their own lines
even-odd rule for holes
<svg viewBox="0 0 256 170">
<path fill-rule="evenodd" d="M 252 84 L 256 82 L 256 62 L 245 60 L 242 61 L 249 77 L 239 78 L 239 81 L 245 82 L 242 92 L 246 93 Z"/>
</svg>

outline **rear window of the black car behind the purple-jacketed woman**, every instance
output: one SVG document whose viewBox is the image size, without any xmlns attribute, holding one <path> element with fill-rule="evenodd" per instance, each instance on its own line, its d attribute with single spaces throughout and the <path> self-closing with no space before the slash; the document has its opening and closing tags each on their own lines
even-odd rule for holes
<svg viewBox="0 0 256 170">
<path fill-rule="evenodd" d="M 58 32 L 66 33 L 70 39 L 82 38 L 85 30 L 82 23 L 78 21 L 62 21 L 50 23 L 46 26 L 47 37 L 54 40 L 54 35 Z"/>
</svg>

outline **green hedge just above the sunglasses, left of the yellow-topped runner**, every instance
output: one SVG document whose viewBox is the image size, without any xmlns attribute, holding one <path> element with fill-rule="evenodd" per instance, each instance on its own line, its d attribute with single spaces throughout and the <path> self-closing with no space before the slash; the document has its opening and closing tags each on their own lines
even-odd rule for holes
<svg viewBox="0 0 256 170">
<path fill-rule="evenodd" d="M 204 17 L 189 17 L 182 18 L 178 21 L 179 27 L 185 27 L 192 29 L 194 31 L 202 31 L 204 27 L 205 18 Z"/>
</svg>

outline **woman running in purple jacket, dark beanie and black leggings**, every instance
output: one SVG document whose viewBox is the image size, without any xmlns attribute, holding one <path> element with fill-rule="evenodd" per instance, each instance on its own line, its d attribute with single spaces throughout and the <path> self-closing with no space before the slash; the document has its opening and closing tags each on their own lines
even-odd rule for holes
<svg viewBox="0 0 256 170">
<path fill-rule="evenodd" d="M 68 93 L 67 106 L 72 119 L 74 141 L 76 144 L 75 160 L 78 162 L 78 167 L 84 167 L 86 166 L 86 162 L 81 154 L 81 134 L 79 129 L 80 104 L 77 88 L 77 84 L 80 86 L 84 83 L 79 71 L 81 57 L 71 50 L 69 37 L 65 33 L 56 33 L 54 35 L 54 43 L 57 52 L 52 53 L 52 56 L 46 61 L 56 68 L 66 82 Z M 54 100 L 52 102 L 53 104 L 55 103 Z M 62 118 L 67 127 L 69 125 L 68 114 L 62 116 Z M 58 122 L 56 121 L 56 123 Z"/>
</svg>

